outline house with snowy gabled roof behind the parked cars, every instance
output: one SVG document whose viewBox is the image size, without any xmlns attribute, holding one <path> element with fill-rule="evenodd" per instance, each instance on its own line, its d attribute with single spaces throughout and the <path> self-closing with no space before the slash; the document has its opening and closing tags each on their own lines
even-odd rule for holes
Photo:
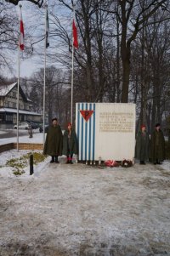
<svg viewBox="0 0 170 256">
<path fill-rule="evenodd" d="M 0 128 L 13 128 L 17 122 L 18 83 L 0 86 Z M 19 87 L 19 122 L 42 122 L 42 114 L 31 111 L 31 100 Z"/>
</svg>

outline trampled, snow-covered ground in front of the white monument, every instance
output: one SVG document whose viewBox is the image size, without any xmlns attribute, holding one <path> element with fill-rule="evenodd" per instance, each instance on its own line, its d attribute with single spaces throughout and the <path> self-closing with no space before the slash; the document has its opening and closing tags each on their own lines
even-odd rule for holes
<svg viewBox="0 0 170 256">
<path fill-rule="evenodd" d="M 3 152 L 0 165 L 23 153 Z M 170 256 L 170 162 L 104 168 L 49 160 L 31 176 L 0 168 L 1 256 Z"/>
</svg>

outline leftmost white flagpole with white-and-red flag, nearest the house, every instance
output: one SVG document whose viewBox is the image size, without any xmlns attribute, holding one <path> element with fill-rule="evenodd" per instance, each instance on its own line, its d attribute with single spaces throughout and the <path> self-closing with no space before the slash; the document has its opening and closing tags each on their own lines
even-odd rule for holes
<svg viewBox="0 0 170 256">
<path fill-rule="evenodd" d="M 19 5 L 20 7 L 20 20 L 21 20 L 21 8 L 22 5 Z M 16 123 L 17 123 L 17 151 L 19 151 L 19 103 L 20 103 L 20 39 L 19 39 L 19 48 L 18 48 L 18 84 L 17 84 L 17 117 L 16 117 Z"/>
</svg>

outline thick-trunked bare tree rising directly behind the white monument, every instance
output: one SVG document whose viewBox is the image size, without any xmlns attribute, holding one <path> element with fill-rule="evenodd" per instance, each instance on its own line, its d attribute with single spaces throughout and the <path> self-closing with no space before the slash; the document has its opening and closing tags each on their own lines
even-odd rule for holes
<svg viewBox="0 0 170 256">
<path fill-rule="evenodd" d="M 167 0 L 152 0 L 150 2 L 119 0 L 120 11 L 117 12 L 117 15 L 122 25 L 122 102 L 126 103 L 128 101 L 131 45 L 145 22 L 150 20 L 158 9 L 165 9 L 165 3 L 167 3 Z M 163 19 L 161 16 L 161 20 Z M 150 20 L 150 22 L 152 21 Z"/>
</svg>

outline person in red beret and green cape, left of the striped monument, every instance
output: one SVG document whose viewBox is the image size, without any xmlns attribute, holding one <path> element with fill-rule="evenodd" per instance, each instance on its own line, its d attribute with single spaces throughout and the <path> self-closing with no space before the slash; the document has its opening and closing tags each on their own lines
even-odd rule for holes
<svg viewBox="0 0 170 256">
<path fill-rule="evenodd" d="M 69 122 L 63 135 L 63 155 L 67 156 L 66 163 L 72 163 L 73 154 L 77 154 L 77 134 Z"/>
</svg>

